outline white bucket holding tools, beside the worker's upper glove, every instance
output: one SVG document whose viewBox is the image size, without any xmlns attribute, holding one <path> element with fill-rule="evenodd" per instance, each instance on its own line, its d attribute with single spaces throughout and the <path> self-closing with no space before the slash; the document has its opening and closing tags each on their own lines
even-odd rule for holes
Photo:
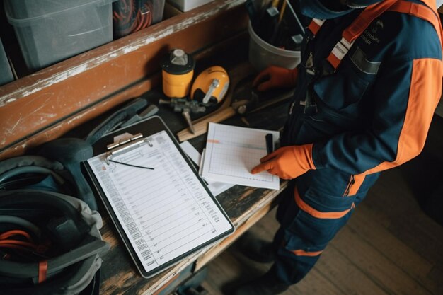
<svg viewBox="0 0 443 295">
<path fill-rule="evenodd" d="M 270 45 L 255 34 L 251 21 L 248 23 L 249 32 L 249 62 L 257 70 L 266 69 L 267 66 L 282 66 L 294 69 L 300 63 L 300 52 L 284 50 Z"/>
</svg>

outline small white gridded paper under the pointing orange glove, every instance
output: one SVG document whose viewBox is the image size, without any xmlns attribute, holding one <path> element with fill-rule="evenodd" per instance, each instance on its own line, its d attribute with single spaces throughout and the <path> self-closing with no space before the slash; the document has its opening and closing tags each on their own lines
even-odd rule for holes
<svg viewBox="0 0 443 295">
<path fill-rule="evenodd" d="M 223 183 L 278 190 L 277 176 L 267 171 L 251 174 L 251 169 L 267 154 L 265 137 L 269 133 L 277 141 L 277 131 L 209 123 L 202 176 Z"/>
</svg>

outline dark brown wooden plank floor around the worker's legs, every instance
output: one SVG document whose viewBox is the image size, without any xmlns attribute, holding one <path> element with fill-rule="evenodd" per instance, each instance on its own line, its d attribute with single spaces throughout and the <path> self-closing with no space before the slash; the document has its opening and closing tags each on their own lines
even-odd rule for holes
<svg viewBox="0 0 443 295">
<path fill-rule="evenodd" d="M 443 227 L 422 209 L 442 180 L 443 119 L 435 117 L 422 154 L 381 175 L 313 270 L 284 294 L 443 295 Z M 441 220 L 439 204 L 432 209 Z M 251 231 L 272 239 L 274 216 L 270 212 Z M 270 267 L 248 260 L 237 248 L 234 243 L 209 263 L 202 284 L 209 294 L 228 295 L 222 290 Z"/>
</svg>

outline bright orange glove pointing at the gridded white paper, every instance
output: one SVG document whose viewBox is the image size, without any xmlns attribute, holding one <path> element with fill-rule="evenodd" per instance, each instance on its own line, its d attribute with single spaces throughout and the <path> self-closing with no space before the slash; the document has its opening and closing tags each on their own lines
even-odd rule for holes
<svg viewBox="0 0 443 295">
<path fill-rule="evenodd" d="M 309 169 L 315 169 L 312 161 L 313 144 L 304 144 L 302 146 L 284 146 L 263 158 L 260 158 L 261 164 L 255 166 L 251 173 L 256 174 L 264 170 L 277 175 L 282 179 L 293 179 L 308 172 Z"/>
</svg>

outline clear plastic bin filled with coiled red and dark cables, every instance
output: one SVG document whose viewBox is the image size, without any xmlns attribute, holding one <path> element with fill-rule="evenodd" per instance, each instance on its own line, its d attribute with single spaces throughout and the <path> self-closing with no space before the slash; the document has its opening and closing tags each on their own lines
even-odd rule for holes
<svg viewBox="0 0 443 295">
<path fill-rule="evenodd" d="M 165 0 L 117 0 L 113 3 L 114 38 L 137 32 L 163 19 Z"/>
</svg>

